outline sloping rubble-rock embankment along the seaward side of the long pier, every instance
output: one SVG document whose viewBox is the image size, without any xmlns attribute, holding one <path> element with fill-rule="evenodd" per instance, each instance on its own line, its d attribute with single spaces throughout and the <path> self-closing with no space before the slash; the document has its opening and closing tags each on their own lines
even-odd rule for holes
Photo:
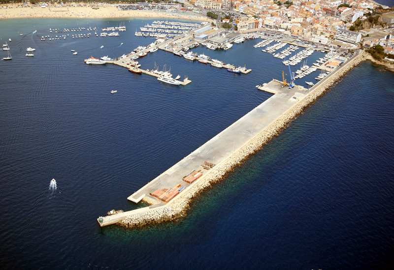
<svg viewBox="0 0 394 270">
<path fill-rule="evenodd" d="M 144 212 L 138 212 L 133 215 L 127 215 L 118 224 L 126 228 L 141 227 L 148 224 L 161 223 L 175 220 L 185 216 L 190 208 L 189 204 L 199 194 L 211 187 L 213 183 L 221 181 L 227 173 L 234 167 L 241 165 L 244 161 L 259 151 L 272 138 L 279 135 L 304 109 L 308 108 L 315 100 L 323 96 L 331 86 L 337 83 L 347 72 L 355 68 L 361 62 L 367 60 L 365 52 L 360 51 L 350 60 L 348 60 L 340 69 L 329 74 L 324 80 L 320 81 L 313 87 L 312 91 L 296 102 L 293 106 L 284 111 L 277 119 L 249 141 L 246 141 L 242 147 L 236 149 L 233 154 L 226 160 L 216 164 L 209 172 L 205 173 L 196 182 L 191 184 L 182 193 L 172 199 L 165 205 L 154 205 L 160 203 L 157 200 L 145 196 L 142 201 L 153 206 L 146 207 Z"/>
</svg>

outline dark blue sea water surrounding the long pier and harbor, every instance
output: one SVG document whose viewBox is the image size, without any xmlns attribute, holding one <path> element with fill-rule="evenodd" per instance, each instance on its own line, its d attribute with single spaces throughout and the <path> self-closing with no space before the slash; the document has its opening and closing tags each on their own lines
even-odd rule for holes
<svg viewBox="0 0 394 270">
<path fill-rule="evenodd" d="M 253 48 L 260 40 L 194 50 L 246 65 L 247 75 L 163 51 L 139 60 L 188 76 L 186 87 L 84 64 L 153 42 L 134 36 L 151 21 L 0 21 L 0 42 L 12 39 L 12 61 L 0 62 L 0 269 L 393 267 L 394 76 L 369 62 L 198 197 L 186 217 L 99 227 L 110 209 L 143 206 L 127 197 L 268 99 L 255 86 L 286 72 Z M 49 28 L 121 22 L 119 37 L 40 40 Z M 34 57 L 25 57 L 27 47 Z"/>
</svg>

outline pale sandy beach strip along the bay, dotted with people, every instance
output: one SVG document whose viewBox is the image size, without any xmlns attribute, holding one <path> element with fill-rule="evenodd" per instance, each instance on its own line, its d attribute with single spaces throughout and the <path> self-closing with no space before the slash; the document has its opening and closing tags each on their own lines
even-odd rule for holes
<svg viewBox="0 0 394 270">
<path fill-rule="evenodd" d="M 73 7 L 18 7 L 15 5 L 0 5 L 0 19 L 9 18 L 174 18 L 196 21 L 209 21 L 206 16 L 190 12 L 175 12 L 176 10 L 150 11 L 150 10 L 118 10 L 116 5 L 101 5 L 98 9 L 90 6 Z M 4 8 L 6 7 L 6 8 Z"/>
</svg>

